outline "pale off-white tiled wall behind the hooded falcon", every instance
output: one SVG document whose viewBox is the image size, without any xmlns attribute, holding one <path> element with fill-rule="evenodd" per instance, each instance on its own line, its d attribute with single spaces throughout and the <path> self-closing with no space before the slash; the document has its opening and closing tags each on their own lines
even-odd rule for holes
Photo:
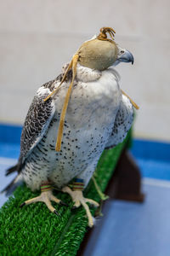
<svg viewBox="0 0 170 256">
<path fill-rule="evenodd" d="M 135 137 L 170 141 L 168 0 L 0 0 L 0 122 L 23 124 L 37 88 L 60 72 L 102 26 L 134 65 L 116 69 L 140 106 Z"/>
</svg>

